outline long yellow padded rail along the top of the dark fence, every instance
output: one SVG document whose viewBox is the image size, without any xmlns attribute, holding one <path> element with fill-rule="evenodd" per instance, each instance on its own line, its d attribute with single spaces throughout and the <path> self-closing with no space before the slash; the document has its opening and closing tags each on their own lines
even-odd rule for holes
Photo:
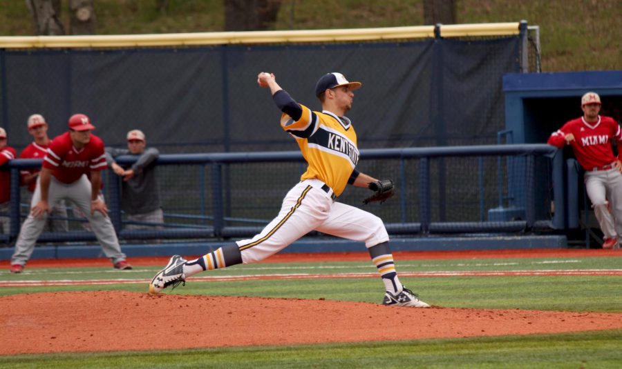
<svg viewBox="0 0 622 369">
<path fill-rule="evenodd" d="M 441 37 L 503 36 L 518 34 L 519 23 L 455 24 L 441 26 L 440 32 Z M 378 41 L 433 37 L 434 26 L 104 36 L 15 36 L 0 37 L 0 48 L 135 48 L 149 46 Z"/>
</svg>

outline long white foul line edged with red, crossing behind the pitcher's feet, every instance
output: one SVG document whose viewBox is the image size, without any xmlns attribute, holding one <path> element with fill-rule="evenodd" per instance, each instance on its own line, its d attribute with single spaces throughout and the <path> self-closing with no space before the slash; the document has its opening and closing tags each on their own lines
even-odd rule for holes
<svg viewBox="0 0 622 369">
<path fill-rule="evenodd" d="M 529 277 L 529 276 L 622 276 L 622 269 L 583 270 L 509 270 L 509 271 L 433 271 L 400 272 L 400 277 Z M 189 281 L 250 281 L 258 279 L 336 279 L 377 278 L 377 272 L 332 274 L 269 274 L 191 277 Z M 149 283 L 151 279 L 59 279 L 55 281 L 2 281 L 0 287 L 92 286 L 108 284 Z"/>
</svg>

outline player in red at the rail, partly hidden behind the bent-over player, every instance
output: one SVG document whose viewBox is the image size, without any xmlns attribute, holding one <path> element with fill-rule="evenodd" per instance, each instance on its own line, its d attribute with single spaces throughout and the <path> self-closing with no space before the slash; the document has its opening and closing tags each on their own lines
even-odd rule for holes
<svg viewBox="0 0 622 369">
<path fill-rule="evenodd" d="M 26 146 L 19 154 L 19 159 L 43 159 L 50 145 L 50 138 L 48 137 L 48 123 L 41 114 L 32 114 L 28 117 L 28 133 L 35 141 L 32 141 L 30 145 Z M 22 186 L 28 186 L 28 192 L 30 192 L 30 199 L 26 201 L 30 202 L 32 194 L 37 187 L 37 178 L 39 177 L 39 168 L 31 168 L 21 170 Z M 67 218 L 67 207 L 65 201 L 61 200 L 50 212 L 50 217 L 64 218 L 64 219 L 49 219 L 46 221 L 44 230 L 51 232 L 67 232 L 69 230 Z"/>
</svg>

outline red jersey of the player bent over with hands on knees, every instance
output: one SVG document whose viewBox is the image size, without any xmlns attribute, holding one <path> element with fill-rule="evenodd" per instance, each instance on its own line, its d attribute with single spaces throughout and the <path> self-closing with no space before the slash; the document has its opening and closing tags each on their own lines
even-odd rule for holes
<svg viewBox="0 0 622 369">
<path fill-rule="evenodd" d="M 52 174 L 62 183 L 73 183 L 82 174 L 108 168 L 104 154 L 104 142 L 100 137 L 91 134 L 91 141 L 84 148 L 75 148 L 69 132 L 55 137 L 48 146 L 44 158 L 44 168 L 52 170 Z"/>
</svg>

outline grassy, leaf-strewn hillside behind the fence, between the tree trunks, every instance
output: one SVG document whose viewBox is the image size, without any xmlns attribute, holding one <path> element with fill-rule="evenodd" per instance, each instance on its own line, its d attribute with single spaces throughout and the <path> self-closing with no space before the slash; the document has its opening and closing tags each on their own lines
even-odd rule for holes
<svg viewBox="0 0 622 369">
<path fill-rule="evenodd" d="M 97 34 L 222 32 L 225 0 L 97 0 Z M 68 1 L 62 21 L 68 22 Z M 540 26 L 543 72 L 622 69 L 620 0 L 458 0 L 457 23 Z M 422 0 L 282 0 L 272 30 L 422 26 Z M 33 35 L 25 1 L 3 0 L 0 36 Z"/>
</svg>

